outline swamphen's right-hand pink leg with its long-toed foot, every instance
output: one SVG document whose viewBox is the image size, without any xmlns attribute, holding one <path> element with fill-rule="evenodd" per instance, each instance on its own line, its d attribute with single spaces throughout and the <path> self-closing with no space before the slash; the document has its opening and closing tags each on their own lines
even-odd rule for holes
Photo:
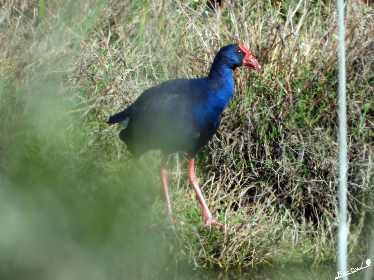
<svg viewBox="0 0 374 280">
<path fill-rule="evenodd" d="M 228 228 L 226 227 L 226 225 L 220 224 L 216 220 L 214 220 L 211 212 L 209 211 L 208 205 L 206 205 L 203 194 L 201 193 L 199 184 L 197 184 L 197 180 L 195 176 L 195 158 L 190 158 L 190 161 L 188 162 L 188 178 L 190 179 L 190 182 L 196 193 L 197 199 L 199 200 L 201 204 L 201 208 L 203 210 L 203 217 L 205 219 L 205 227 L 208 227 L 210 224 L 212 224 L 217 227 L 224 228 L 225 230 L 234 232 L 231 228 Z M 246 236 L 245 234 L 240 234 L 240 233 L 236 233 L 236 235 L 240 235 L 242 237 Z"/>
</svg>

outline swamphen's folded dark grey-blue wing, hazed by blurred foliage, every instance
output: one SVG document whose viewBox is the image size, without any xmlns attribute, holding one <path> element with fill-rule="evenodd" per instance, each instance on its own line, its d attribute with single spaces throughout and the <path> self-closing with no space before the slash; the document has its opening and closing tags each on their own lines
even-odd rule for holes
<svg viewBox="0 0 374 280">
<path fill-rule="evenodd" d="M 133 154 L 161 149 L 192 153 L 199 139 L 190 80 L 172 80 L 145 90 L 132 104 L 123 141 Z M 137 150 L 138 149 L 138 150 Z"/>
</svg>

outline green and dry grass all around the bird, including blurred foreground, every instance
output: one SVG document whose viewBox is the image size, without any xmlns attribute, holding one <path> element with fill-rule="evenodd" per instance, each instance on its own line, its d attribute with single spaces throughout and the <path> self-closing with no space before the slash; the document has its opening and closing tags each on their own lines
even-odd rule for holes
<svg viewBox="0 0 374 280">
<path fill-rule="evenodd" d="M 1 5 L 1 278 L 336 276 L 334 1 L 242 1 L 215 13 L 203 1 Z M 374 22 L 367 3 L 347 9 L 355 267 L 370 258 L 373 223 Z M 131 159 L 105 122 L 152 85 L 205 76 L 220 47 L 238 41 L 265 72 L 237 69 L 196 174 L 214 217 L 252 227 L 244 239 L 201 229 L 186 159 L 175 155 L 172 208 L 190 234 L 163 216 L 159 153 Z"/>
</svg>

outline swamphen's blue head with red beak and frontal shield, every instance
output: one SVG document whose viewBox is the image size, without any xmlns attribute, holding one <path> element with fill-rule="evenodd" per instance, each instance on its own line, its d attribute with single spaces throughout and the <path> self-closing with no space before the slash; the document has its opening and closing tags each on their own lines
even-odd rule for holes
<svg viewBox="0 0 374 280">
<path fill-rule="evenodd" d="M 217 57 L 220 57 L 230 68 L 246 66 L 257 71 L 263 71 L 257 59 L 242 44 L 231 44 L 223 47 L 217 53 Z"/>
</svg>

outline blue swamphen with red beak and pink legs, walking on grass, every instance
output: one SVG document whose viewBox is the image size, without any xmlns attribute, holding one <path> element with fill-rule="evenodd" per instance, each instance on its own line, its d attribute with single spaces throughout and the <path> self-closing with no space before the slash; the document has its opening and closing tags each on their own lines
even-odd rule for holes
<svg viewBox="0 0 374 280">
<path fill-rule="evenodd" d="M 214 220 L 206 205 L 196 181 L 194 157 L 220 125 L 222 112 L 234 94 L 233 72 L 238 66 L 263 70 L 242 44 L 230 44 L 215 56 L 208 77 L 176 79 L 148 88 L 128 108 L 108 120 L 108 124 L 118 122 L 126 127 L 119 137 L 134 158 L 148 150 L 161 149 L 161 180 L 170 216 L 167 155 L 185 152 L 189 158 L 188 178 L 202 206 L 205 225 L 228 229 Z"/>
</svg>

